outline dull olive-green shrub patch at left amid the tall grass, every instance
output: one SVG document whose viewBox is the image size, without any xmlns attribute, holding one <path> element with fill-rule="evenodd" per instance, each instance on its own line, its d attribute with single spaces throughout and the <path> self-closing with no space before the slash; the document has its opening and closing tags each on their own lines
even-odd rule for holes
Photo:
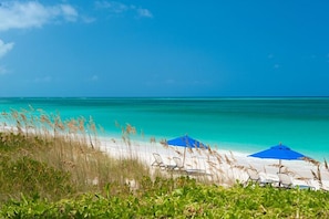
<svg viewBox="0 0 329 219">
<path fill-rule="evenodd" d="M 20 194 L 29 197 L 56 197 L 60 199 L 73 192 L 70 174 L 49 167 L 27 156 L 17 160 L 1 157 L 0 160 L 1 198 L 18 198 Z"/>
</svg>

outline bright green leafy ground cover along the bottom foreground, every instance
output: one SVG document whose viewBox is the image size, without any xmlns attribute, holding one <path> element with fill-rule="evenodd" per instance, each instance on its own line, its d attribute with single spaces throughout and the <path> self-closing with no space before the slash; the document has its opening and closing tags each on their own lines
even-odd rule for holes
<svg viewBox="0 0 329 219">
<path fill-rule="evenodd" d="M 142 189 L 144 195 L 138 197 L 89 192 L 55 202 L 24 198 L 3 205 L 0 215 L 6 218 L 329 217 L 329 198 L 323 191 L 238 185 L 223 188 L 201 185 L 189 178 L 145 180 L 148 182 Z M 144 190 L 146 187 L 148 189 Z"/>
</svg>

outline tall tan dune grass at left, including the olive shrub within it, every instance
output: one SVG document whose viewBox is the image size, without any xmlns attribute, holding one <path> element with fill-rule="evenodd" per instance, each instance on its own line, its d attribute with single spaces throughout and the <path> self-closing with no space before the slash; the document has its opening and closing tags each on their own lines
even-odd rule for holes
<svg viewBox="0 0 329 219">
<path fill-rule="evenodd" d="M 132 150 L 128 157 L 101 152 L 99 128 L 92 118 L 62 121 L 59 114 L 30 107 L 3 112 L 0 121 L 3 199 L 18 198 L 21 192 L 60 199 L 85 191 L 102 192 L 104 187 L 116 194 L 127 190 L 127 179 L 141 180 L 150 175 L 148 167 Z M 123 136 L 127 146 L 132 132 L 127 126 Z M 42 185 L 49 187 L 41 189 Z"/>
</svg>

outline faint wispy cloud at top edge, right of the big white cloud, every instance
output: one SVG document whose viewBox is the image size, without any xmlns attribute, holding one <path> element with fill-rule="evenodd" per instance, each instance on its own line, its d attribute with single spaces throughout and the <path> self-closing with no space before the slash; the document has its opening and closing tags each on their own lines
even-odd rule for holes
<svg viewBox="0 0 329 219">
<path fill-rule="evenodd" d="M 124 4 L 117 1 L 96 1 L 95 2 L 96 9 L 105 9 L 111 13 L 122 14 L 128 11 L 133 11 L 140 18 L 153 18 L 153 14 L 148 9 L 144 9 L 141 7 L 136 7 L 134 4 Z"/>
</svg>

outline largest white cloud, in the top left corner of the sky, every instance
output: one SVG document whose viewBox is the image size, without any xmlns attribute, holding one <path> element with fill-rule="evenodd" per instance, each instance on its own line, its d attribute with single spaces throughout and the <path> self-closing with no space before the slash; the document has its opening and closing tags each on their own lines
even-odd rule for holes
<svg viewBox="0 0 329 219">
<path fill-rule="evenodd" d="M 0 6 L 0 31 L 41 28 L 51 21 L 75 21 L 78 11 L 70 4 L 43 6 L 38 1 L 4 1 Z"/>
</svg>

